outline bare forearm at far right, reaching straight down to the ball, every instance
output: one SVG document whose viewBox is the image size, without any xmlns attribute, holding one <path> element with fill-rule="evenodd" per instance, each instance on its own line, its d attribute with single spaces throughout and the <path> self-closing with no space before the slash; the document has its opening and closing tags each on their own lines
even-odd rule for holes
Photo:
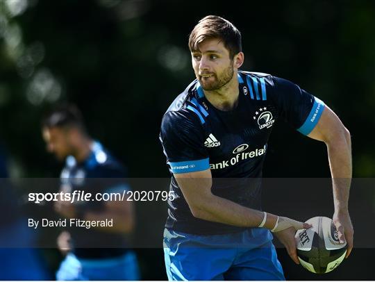
<svg viewBox="0 0 375 282">
<path fill-rule="evenodd" d="M 350 134 L 344 131 L 341 136 L 326 144 L 333 181 L 335 213 L 347 212 L 352 174 Z"/>
</svg>

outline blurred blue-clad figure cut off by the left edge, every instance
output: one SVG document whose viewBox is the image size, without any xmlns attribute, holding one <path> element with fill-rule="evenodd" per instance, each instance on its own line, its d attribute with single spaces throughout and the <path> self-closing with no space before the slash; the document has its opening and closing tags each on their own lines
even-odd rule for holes
<svg viewBox="0 0 375 282">
<path fill-rule="evenodd" d="M 38 233 L 28 228 L 20 197 L 8 177 L 0 144 L 0 280 L 51 280 L 40 249 L 35 248 Z"/>
</svg>

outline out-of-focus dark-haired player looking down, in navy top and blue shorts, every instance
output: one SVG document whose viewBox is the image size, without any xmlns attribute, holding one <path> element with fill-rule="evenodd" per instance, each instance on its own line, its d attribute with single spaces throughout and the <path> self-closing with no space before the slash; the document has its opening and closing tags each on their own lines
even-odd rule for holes
<svg viewBox="0 0 375 282">
<path fill-rule="evenodd" d="M 60 106 L 42 121 L 47 150 L 65 160 L 60 190 L 92 194 L 128 190 L 125 168 L 86 131 L 75 106 Z M 71 228 L 58 237 L 58 246 L 68 251 L 56 274 L 58 280 L 138 280 L 135 254 L 127 249 L 133 231 L 134 212 L 130 201 L 58 201 L 63 217 L 83 220 L 113 219 L 113 227 Z M 103 246 L 103 247 L 97 247 Z M 105 247 L 111 246 L 111 247 Z M 97 247 L 97 248 L 95 248 Z"/>
</svg>

